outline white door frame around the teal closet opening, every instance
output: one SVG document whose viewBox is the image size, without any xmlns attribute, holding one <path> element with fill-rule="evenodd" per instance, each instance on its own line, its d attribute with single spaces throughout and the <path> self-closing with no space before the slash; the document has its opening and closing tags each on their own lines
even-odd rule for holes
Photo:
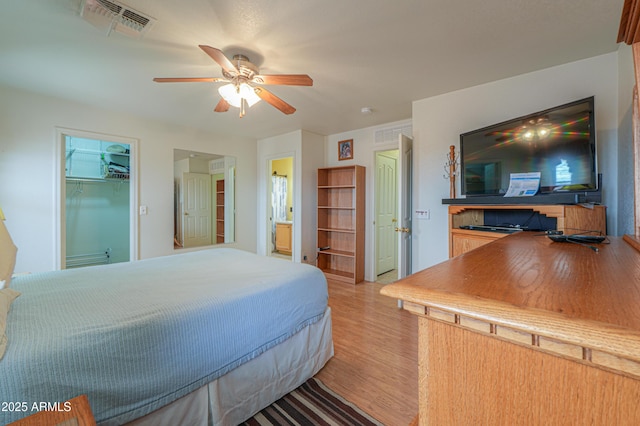
<svg viewBox="0 0 640 426">
<path fill-rule="evenodd" d="M 129 260 L 139 258 L 139 220 L 138 206 L 138 139 L 123 136 L 108 135 L 105 133 L 89 132 L 84 130 L 56 127 L 55 143 L 53 144 L 54 176 L 53 176 L 53 252 L 54 269 L 66 268 L 66 176 L 65 176 L 65 137 L 103 140 L 108 142 L 123 143 L 129 145 Z"/>
</svg>

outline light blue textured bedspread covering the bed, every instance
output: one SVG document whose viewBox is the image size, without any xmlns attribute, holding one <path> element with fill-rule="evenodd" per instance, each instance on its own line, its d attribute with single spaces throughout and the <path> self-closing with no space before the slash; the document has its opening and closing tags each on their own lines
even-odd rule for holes
<svg viewBox="0 0 640 426">
<path fill-rule="evenodd" d="M 228 248 L 19 276 L 11 287 L 22 295 L 8 316 L 0 403 L 31 414 L 34 403 L 87 394 L 103 424 L 224 375 L 317 321 L 328 302 L 315 267 Z M 0 410 L 0 424 L 22 417 Z"/>
</svg>

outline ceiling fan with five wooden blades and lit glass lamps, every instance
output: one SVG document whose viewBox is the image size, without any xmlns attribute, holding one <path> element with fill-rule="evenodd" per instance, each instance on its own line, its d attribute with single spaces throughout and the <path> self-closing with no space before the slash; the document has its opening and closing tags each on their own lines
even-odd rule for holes
<svg viewBox="0 0 640 426">
<path fill-rule="evenodd" d="M 200 49 L 222 67 L 224 77 L 184 77 L 154 78 L 157 83 L 211 82 L 228 83 L 218 92 L 222 96 L 215 107 L 216 112 L 226 112 L 229 106 L 240 108 L 240 117 L 245 115 L 245 106 L 252 106 L 263 100 L 285 114 L 293 114 L 296 109 L 262 87 L 262 85 L 313 86 L 313 80 L 306 74 L 261 75 L 258 67 L 244 55 L 234 55 L 230 60 L 220 49 L 200 45 Z"/>
</svg>

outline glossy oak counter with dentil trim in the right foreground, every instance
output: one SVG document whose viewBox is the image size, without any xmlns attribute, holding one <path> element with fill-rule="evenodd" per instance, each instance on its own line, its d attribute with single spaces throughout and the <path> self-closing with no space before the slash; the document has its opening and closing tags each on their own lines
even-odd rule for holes
<svg viewBox="0 0 640 426">
<path fill-rule="evenodd" d="M 521 232 L 385 286 L 420 316 L 421 425 L 640 424 L 640 253 Z"/>
</svg>

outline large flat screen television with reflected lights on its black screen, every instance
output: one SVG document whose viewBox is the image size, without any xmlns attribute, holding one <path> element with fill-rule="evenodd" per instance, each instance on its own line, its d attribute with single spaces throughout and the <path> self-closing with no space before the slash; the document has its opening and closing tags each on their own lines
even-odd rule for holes
<svg viewBox="0 0 640 426">
<path fill-rule="evenodd" d="M 593 96 L 460 135 L 463 195 L 504 195 L 529 172 L 538 194 L 598 189 Z"/>
</svg>

